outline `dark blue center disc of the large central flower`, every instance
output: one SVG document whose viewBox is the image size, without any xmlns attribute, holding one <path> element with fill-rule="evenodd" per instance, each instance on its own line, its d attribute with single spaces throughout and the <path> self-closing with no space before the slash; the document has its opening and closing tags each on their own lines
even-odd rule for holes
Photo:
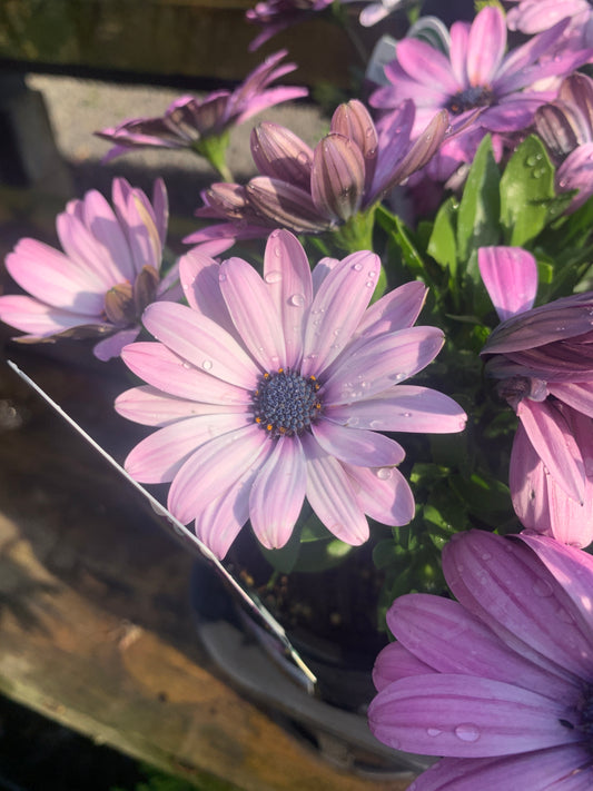
<svg viewBox="0 0 593 791">
<path fill-rule="evenodd" d="M 322 409 L 318 389 L 315 376 L 284 368 L 264 374 L 254 394 L 255 422 L 271 436 L 303 434 Z"/>
</svg>

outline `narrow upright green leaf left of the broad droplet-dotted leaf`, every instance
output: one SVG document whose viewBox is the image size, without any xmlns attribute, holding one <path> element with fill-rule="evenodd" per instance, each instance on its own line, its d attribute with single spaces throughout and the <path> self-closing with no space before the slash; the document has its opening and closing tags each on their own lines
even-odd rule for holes
<svg viewBox="0 0 593 791">
<path fill-rule="evenodd" d="M 457 257 L 466 261 L 478 247 L 496 245 L 501 230 L 498 167 L 486 136 L 480 144 L 467 175 L 457 215 Z"/>
</svg>

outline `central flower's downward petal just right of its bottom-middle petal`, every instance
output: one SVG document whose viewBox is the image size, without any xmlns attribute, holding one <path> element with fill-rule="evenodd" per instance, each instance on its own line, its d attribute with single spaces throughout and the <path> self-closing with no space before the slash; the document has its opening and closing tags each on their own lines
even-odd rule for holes
<svg viewBox="0 0 593 791">
<path fill-rule="evenodd" d="M 357 546 L 368 538 L 368 523 L 340 463 L 328 456 L 307 434 L 302 437 L 307 457 L 307 500 L 327 530 Z"/>
</svg>

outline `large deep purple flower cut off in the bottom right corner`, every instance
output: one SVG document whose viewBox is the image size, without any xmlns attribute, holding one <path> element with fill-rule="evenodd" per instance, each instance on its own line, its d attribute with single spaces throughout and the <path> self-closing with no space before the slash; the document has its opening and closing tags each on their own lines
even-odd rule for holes
<svg viewBox="0 0 593 791">
<path fill-rule="evenodd" d="M 457 601 L 396 600 L 370 729 L 442 755 L 408 791 L 593 785 L 593 558 L 553 538 L 472 531 L 443 551 Z"/>
</svg>

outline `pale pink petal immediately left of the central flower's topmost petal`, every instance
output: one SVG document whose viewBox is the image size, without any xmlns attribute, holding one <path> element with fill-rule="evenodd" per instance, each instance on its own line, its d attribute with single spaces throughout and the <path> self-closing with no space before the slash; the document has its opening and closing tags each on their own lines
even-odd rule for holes
<svg viewBox="0 0 593 791">
<path fill-rule="evenodd" d="M 260 276 L 241 258 L 229 258 L 220 265 L 218 281 L 233 323 L 253 357 L 267 372 L 285 367 L 280 316 Z"/>
</svg>

